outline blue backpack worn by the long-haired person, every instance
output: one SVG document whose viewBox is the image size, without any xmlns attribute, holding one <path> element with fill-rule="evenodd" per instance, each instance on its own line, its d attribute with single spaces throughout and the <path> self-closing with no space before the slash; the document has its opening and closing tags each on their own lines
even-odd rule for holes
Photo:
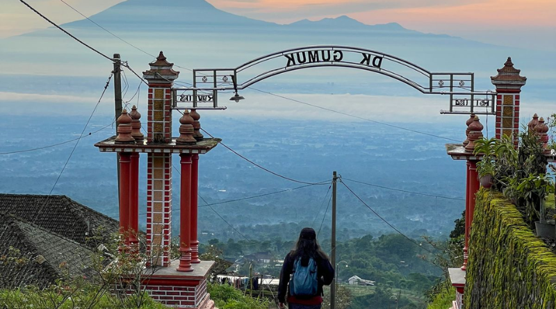
<svg viewBox="0 0 556 309">
<path fill-rule="evenodd" d="M 293 262 L 293 276 L 290 280 L 290 294 L 293 296 L 314 296 L 318 291 L 317 263 L 309 258 L 307 266 L 301 265 L 301 257 Z"/>
</svg>

